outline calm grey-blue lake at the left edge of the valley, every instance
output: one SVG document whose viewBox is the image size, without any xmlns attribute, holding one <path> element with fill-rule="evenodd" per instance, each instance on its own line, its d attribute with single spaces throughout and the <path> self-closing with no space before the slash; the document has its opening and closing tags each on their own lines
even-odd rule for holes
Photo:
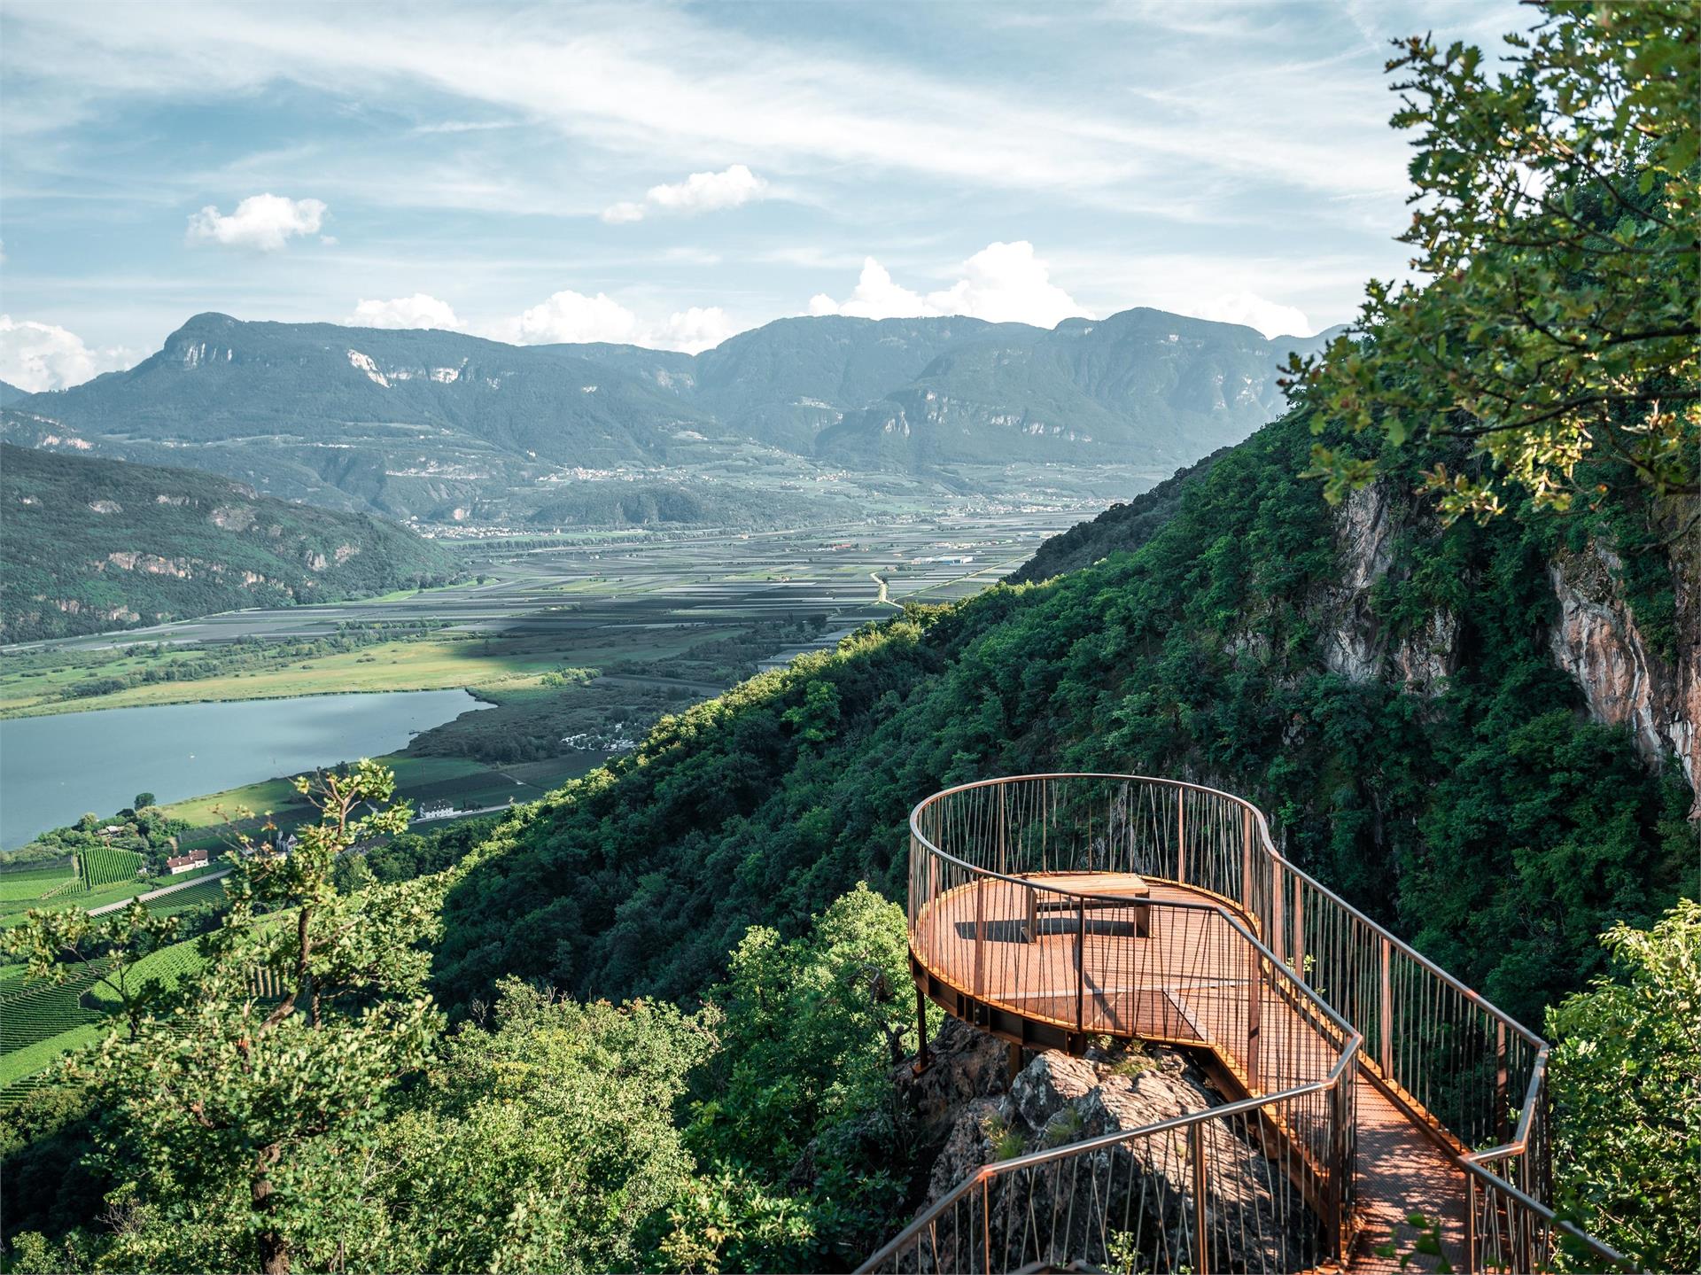
<svg viewBox="0 0 1701 1275">
<path fill-rule="evenodd" d="M 466 691 L 102 708 L 0 722 L 0 848 L 139 792 L 162 803 L 407 747 L 469 708 Z"/>
</svg>

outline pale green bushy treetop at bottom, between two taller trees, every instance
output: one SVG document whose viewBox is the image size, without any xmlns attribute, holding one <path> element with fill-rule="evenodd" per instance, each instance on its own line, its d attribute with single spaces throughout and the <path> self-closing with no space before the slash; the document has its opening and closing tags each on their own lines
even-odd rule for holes
<svg viewBox="0 0 1701 1275">
<path fill-rule="evenodd" d="M 366 1270 L 633 1270 L 694 1163 L 674 1125 L 713 1009 L 580 1004 L 505 981 L 418 1101 L 344 1156 L 342 1249 Z"/>
</svg>

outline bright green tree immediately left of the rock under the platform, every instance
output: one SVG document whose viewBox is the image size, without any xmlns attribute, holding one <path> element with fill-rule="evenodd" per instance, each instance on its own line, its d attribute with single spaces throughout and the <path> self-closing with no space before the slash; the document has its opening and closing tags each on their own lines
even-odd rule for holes
<svg viewBox="0 0 1701 1275">
<path fill-rule="evenodd" d="M 687 1146 L 708 1169 L 660 1253 L 691 1270 L 856 1265 L 891 1227 L 913 1159 L 891 1067 L 915 1047 L 903 909 L 857 883 L 782 941 L 752 926 L 721 1049 L 692 1079 Z"/>
</svg>

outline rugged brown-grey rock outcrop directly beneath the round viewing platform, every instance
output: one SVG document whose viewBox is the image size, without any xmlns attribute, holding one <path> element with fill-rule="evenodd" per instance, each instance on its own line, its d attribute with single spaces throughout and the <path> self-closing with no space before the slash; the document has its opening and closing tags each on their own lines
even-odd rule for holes
<svg viewBox="0 0 1701 1275">
<path fill-rule="evenodd" d="M 919 1212 L 949 1197 L 985 1164 L 1145 1129 L 1221 1103 L 1204 1074 L 1170 1049 L 1114 1045 L 1080 1059 L 1056 1050 L 1027 1059 L 1007 1083 L 1005 1045 L 946 1020 L 925 1072 L 895 1069 L 895 1084 L 924 1142 L 939 1147 Z M 1259 1236 L 1267 1270 L 1315 1265 L 1315 1226 L 1306 1222 L 1298 1232 L 1284 1226 L 1291 1215 L 1272 1193 L 1269 1161 L 1226 1129 L 1209 1129 L 1206 1232 L 1242 1238 L 1242 1256 L 1245 1241 Z M 1186 1134 L 1169 1132 L 995 1178 L 987 1195 L 987 1234 L 1012 1266 L 1056 1253 L 1090 1253 L 1118 1265 L 1135 1260 L 1140 1270 L 1186 1265 L 1198 1209 L 1189 1156 Z M 964 1268 L 966 1244 L 981 1226 L 978 1198 L 968 1205 L 973 1217 L 947 1209 L 936 1219 L 924 1270 Z M 1099 1221 L 1107 1215 L 1112 1224 L 1106 1238 Z M 1106 1239 L 1114 1246 L 1109 1251 Z"/>
</svg>

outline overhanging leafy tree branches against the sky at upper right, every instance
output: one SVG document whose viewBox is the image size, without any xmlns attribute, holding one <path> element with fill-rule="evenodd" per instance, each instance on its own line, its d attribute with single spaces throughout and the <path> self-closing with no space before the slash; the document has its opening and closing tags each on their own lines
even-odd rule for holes
<svg viewBox="0 0 1701 1275">
<path fill-rule="evenodd" d="M 1565 509 L 1597 478 L 1694 495 L 1701 434 L 1692 0 L 1546 0 L 1505 68 L 1398 41 L 1393 126 L 1414 141 L 1422 283 L 1371 281 L 1356 327 L 1289 364 L 1317 429 L 1468 439 L 1485 465 L 1425 475 L 1446 517 L 1488 517 L 1504 483 Z M 1373 460 L 1318 444 L 1330 499 Z"/>
</svg>

